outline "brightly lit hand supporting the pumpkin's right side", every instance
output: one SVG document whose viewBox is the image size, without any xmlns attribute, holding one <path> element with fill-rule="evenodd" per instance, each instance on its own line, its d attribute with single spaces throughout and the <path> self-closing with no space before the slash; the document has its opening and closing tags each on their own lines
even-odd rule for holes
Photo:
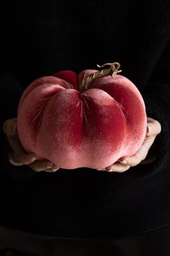
<svg viewBox="0 0 170 256">
<path fill-rule="evenodd" d="M 161 125 L 155 119 L 147 118 L 147 132 L 145 140 L 143 141 L 140 149 L 133 156 L 124 156 L 118 159 L 118 161 L 105 169 L 97 169 L 99 171 L 107 172 L 125 172 L 130 169 L 131 166 L 138 164 L 149 164 L 156 159 L 156 155 L 150 155 L 148 157 L 148 151 L 155 141 L 156 136 L 161 132 Z M 154 146 L 154 145 L 153 145 Z M 152 147 L 153 147 L 152 146 Z"/>
</svg>

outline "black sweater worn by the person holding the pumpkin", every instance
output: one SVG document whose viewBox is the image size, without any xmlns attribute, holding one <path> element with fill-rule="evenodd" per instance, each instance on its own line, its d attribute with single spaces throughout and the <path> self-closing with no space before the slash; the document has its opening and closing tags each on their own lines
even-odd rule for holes
<svg viewBox="0 0 170 256">
<path fill-rule="evenodd" d="M 157 158 L 124 173 L 37 173 L 8 162 L 1 129 L 0 225 L 49 236 L 125 237 L 170 223 L 168 1 L 17 1 L 3 10 L 1 127 L 36 78 L 120 62 L 157 119 Z M 4 26 L 5 24 L 5 26 Z"/>
</svg>

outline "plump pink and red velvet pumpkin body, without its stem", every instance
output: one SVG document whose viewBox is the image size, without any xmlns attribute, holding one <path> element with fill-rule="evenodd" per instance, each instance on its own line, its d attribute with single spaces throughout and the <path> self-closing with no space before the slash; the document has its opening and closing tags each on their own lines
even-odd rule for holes
<svg viewBox="0 0 170 256">
<path fill-rule="evenodd" d="M 27 87 L 17 122 L 27 152 L 63 169 L 105 168 L 137 152 L 147 129 L 143 98 L 122 75 L 96 79 L 81 92 L 83 78 L 97 71 L 59 71 Z"/>
</svg>

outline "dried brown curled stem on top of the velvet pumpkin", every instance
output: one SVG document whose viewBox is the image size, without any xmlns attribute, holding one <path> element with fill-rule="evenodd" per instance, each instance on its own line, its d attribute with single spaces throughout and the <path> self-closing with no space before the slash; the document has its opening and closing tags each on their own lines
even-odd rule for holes
<svg viewBox="0 0 170 256">
<path fill-rule="evenodd" d="M 97 65 L 99 68 L 103 68 L 104 66 L 109 65 L 110 67 L 107 69 L 103 69 L 101 71 L 97 71 L 95 73 L 90 74 L 89 76 L 86 76 L 83 78 L 82 83 L 81 83 L 81 93 L 88 90 L 89 85 L 94 82 L 96 79 L 99 79 L 104 76 L 112 76 L 115 77 L 117 73 L 122 72 L 120 69 L 121 65 L 118 62 L 113 62 L 113 63 L 105 63 L 102 66 Z"/>
</svg>

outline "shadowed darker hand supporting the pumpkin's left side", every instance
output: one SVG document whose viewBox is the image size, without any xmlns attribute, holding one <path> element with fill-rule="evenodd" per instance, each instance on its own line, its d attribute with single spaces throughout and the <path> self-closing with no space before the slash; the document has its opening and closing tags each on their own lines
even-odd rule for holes
<svg viewBox="0 0 170 256">
<path fill-rule="evenodd" d="M 28 165 L 32 170 L 40 172 L 56 172 L 59 168 L 48 160 L 38 161 L 34 153 L 27 153 L 22 147 L 18 132 L 17 118 L 7 119 L 3 123 L 3 131 L 6 134 L 8 145 L 8 158 L 11 164 L 15 166 Z"/>
</svg>

